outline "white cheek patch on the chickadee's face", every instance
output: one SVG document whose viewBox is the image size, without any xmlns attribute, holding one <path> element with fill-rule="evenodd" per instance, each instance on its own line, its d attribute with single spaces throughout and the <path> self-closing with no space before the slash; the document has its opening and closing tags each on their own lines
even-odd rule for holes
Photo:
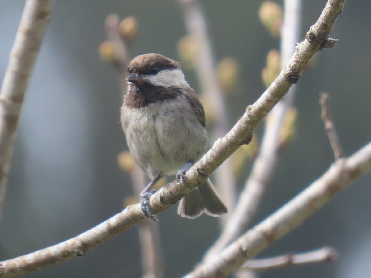
<svg viewBox="0 0 371 278">
<path fill-rule="evenodd" d="M 180 69 L 161 70 L 157 75 L 146 76 L 146 80 L 161 87 L 188 88 L 188 83 Z"/>
</svg>

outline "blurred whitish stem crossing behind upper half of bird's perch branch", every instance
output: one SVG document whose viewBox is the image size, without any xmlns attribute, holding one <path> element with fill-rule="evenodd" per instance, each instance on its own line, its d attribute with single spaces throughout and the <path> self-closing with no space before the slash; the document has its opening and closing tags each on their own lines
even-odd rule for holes
<svg viewBox="0 0 371 278">
<path fill-rule="evenodd" d="M 295 43 L 299 37 L 300 0 L 286 0 L 285 13 L 282 26 L 281 63 L 282 67 L 290 60 L 295 51 Z M 296 87 L 291 87 L 285 98 L 270 112 L 269 120 L 265 123 L 265 132 L 262 145 L 255 159 L 252 171 L 242 190 L 236 209 L 229 216 L 223 232 L 215 244 L 207 251 L 204 260 L 214 255 L 237 238 L 249 224 L 257 211 L 267 183 L 275 168 L 278 156 L 278 135 L 286 112 L 292 105 Z"/>
</svg>

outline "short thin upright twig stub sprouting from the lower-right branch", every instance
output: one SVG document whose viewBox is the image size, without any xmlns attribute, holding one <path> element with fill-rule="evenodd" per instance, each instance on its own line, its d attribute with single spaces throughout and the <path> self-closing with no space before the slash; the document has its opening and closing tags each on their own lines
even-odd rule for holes
<svg viewBox="0 0 371 278">
<path fill-rule="evenodd" d="M 332 118 L 330 108 L 330 96 L 328 93 L 321 93 L 321 118 L 325 123 L 325 130 L 327 132 L 328 139 L 330 140 L 332 150 L 334 151 L 335 161 L 343 156 L 343 149 L 341 148 L 338 134 L 336 133 L 334 118 Z"/>
</svg>

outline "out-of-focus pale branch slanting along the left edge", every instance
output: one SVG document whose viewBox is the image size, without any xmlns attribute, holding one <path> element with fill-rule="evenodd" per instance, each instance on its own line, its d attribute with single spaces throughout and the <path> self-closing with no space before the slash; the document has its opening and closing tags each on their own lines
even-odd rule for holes
<svg viewBox="0 0 371 278">
<path fill-rule="evenodd" d="M 0 215 L 24 94 L 50 21 L 52 0 L 27 0 L 0 91 Z"/>
</svg>

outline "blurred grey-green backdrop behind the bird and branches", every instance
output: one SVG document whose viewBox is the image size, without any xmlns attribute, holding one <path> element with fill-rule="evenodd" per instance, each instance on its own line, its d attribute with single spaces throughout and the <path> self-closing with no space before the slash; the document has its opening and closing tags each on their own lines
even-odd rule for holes
<svg viewBox="0 0 371 278">
<path fill-rule="evenodd" d="M 282 4 L 281 1 L 276 1 Z M 279 48 L 260 23 L 262 1 L 202 1 L 215 62 L 238 62 L 236 86 L 227 96 L 228 125 L 265 90 L 266 55 Z M 325 0 L 303 1 L 301 37 L 315 23 Z M 0 76 L 3 77 L 24 1 L 0 2 Z M 332 49 L 315 56 L 297 86 L 296 138 L 280 153 L 254 223 L 257 224 L 324 173 L 334 160 L 324 131 L 319 92 L 330 94 L 335 125 L 345 155 L 371 140 L 371 2 L 348 1 L 330 36 Z M 138 33 L 131 57 L 161 53 L 180 60 L 177 45 L 186 34 L 177 1 L 56 0 L 20 117 L 17 142 L 0 222 L 0 259 L 64 241 L 124 208 L 133 195 L 130 177 L 118 166 L 127 150 L 119 123 L 118 74 L 99 58 L 106 40 L 105 18 L 135 16 Z M 193 70 L 184 68 L 198 91 Z M 262 126 L 257 137 L 261 138 Z M 238 177 L 241 188 L 251 163 Z M 170 179 L 168 180 L 170 181 Z M 259 277 L 370 277 L 371 175 L 337 195 L 298 229 L 259 257 L 333 246 L 333 263 L 288 267 Z M 189 221 L 176 206 L 159 215 L 165 277 L 191 271 L 218 235 L 218 221 L 202 215 Z M 24 277 L 140 277 L 136 228 L 89 251 L 84 257 Z"/>
</svg>

